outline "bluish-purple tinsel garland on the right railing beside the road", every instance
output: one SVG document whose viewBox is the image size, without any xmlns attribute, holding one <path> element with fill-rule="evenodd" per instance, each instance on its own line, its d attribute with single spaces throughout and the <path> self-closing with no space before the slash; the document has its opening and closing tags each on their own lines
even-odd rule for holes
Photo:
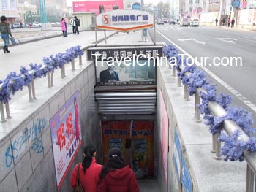
<svg viewBox="0 0 256 192">
<path fill-rule="evenodd" d="M 248 141 L 241 141 L 238 139 L 240 132 L 236 131 L 231 136 L 222 134 L 219 137 L 219 141 L 224 142 L 222 147 L 222 155 L 225 156 L 225 161 L 244 161 L 244 150 L 249 152 L 256 151 L 256 139 L 251 137 L 251 134 L 256 134 L 256 128 L 250 128 L 252 126 L 252 115 L 249 114 L 244 108 L 228 107 L 232 102 L 231 96 L 224 96 L 222 93 L 217 98 L 216 87 L 217 85 L 210 85 L 210 82 L 206 80 L 206 74 L 203 71 L 199 71 L 195 66 L 186 64 L 186 60 L 181 61 L 181 56 L 178 55 L 178 50 L 172 45 L 164 47 L 163 52 L 165 56 L 170 60 L 172 57 L 176 57 L 178 60 L 175 69 L 178 72 L 178 78 L 181 79 L 183 84 L 188 86 L 189 95 L 192 96 L 197 88 L 203 88 L 204 91 L 200 91 L 201 104 L 198 105 L 200 113 L 204 114 L 205 124 L 210 126 L 211 134 L 221 134 L 222 123 L 224 120 L 233 120 L 242 130 L 248 135 Z M 184 70 L 181 71 L 180 66 L 184 65 Z M 185 76 L 189 72 L 190 74 Z M 209 101 L 215 101 L 220 104 L 223 109 L 226 110 L 227 115 L 222 117 L 214 117 L 211 115 L 211 111 L 208 109 Z"/>
</svg>

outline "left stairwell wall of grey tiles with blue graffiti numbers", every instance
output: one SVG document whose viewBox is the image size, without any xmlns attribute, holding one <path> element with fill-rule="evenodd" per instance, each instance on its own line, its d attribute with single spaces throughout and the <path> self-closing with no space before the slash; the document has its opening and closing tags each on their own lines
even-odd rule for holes
<svg viewBox="0 0 256 192">
<path fill-rule="evenodd" d="M 74 72 L 66 66 L 64 79 L 58 80 L 61 74 L 56 71 L 53 88 L 46 88 L 46 78 L 36 81 L 34 102 L 28 102 L 25 96 L 11 105 L 12 119 L 1 123 L 10 133 L 1 137 L 0 142 L 0 191 L 56 191 L 49 120 L 78 90 L 83 143 L 60 190 L 71 191 L 69 178 L 75 164 L 83 159 L 83 146 L 97 145 L 100 139 L 94 102 L 94 64 L 77 63 Z"/>
</svg>

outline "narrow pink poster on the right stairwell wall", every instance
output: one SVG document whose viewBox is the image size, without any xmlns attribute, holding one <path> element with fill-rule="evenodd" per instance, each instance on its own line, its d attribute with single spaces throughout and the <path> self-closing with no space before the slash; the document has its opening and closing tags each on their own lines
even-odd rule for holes
<svg viewBox="0 0 256 192">
<path fill-rule="evenodd" d="M 165 101 L 162 96 L 162 91 L 160 91 L 160 115 L 161 115 L 161 121 L 160 121 L 160 133 L 161 134 L 161 148 L 162 148 L 162 166 L 164 168 L 164 174 L 165 174 L 165 183 L 167 186 L 168 177 L 167 177 L 167 170 L 168 170 L 168 115 L 165 108 Z"/>
</svg>

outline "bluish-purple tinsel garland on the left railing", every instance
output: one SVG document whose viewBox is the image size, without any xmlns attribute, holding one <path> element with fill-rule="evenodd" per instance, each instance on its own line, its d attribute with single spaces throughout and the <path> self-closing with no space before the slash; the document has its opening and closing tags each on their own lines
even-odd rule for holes
<svg viewBox="0 0 256 192">
<path fill-rule="evenodd" d="M 15 72 L 10 72 L 5 80 L 0 80 L 0 101 L 4 104 L 8 103 L 11 100 L 10 93 L 15 94 L 23 86 L 28 86 L 32 79 L 45 77 L 48 72 L 54 72 L 54 69 L 62 68 L 64 64 L 72 61 L 72 58 L 77 58 L 79 55 L 83 55 L 80 45 L 71 47 L 66 53 L 57 53 L 55 57 L 50 55 L 49 58 L 42 58 L 44 66 L 42 64 L 30 64 L 30 72 L 23 66 L 20 68 L 20 74 L 18 75 Z"/>
</svg>

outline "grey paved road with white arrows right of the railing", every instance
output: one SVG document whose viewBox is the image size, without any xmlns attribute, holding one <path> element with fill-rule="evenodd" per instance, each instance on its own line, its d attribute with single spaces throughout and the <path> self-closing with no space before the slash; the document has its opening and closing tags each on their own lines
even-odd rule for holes
<svg viewBox="0 0 256 192">
<path fill-rule="evenodd" d="M 184 51 L 199 61 L 201 57 L 208 57 L 203 69 L 216 75 L 214 82 L 219 84 L 219 92 L 233 94 L 235 103 L 245 106 L 256 120 L 255 32 L 226 27 L 192 28 L 166 24 L 157 26 L 157 42 L 165 42 L 167 45 L 172 42 L 182 49 L 179 53 Z M 242 66 L 214 66 L 214 57 L 241 57 Z"/>
</svg>

